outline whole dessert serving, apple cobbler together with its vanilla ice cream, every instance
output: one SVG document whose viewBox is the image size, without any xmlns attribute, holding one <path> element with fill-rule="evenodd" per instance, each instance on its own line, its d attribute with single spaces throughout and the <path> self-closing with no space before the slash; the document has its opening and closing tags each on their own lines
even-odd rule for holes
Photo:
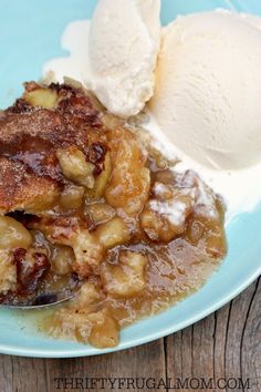
<svg viewBox="0 0 261 392">
<path fill-rule="evenodd" d="M 260 173 L 242 171 L 260 155 L 260 19 L 179 17 L 160 37 L 159 6 L 100 0 L 91 27 L 66 29 L 71 56 L 45 66 L 88 91 L 27 83 L 0 114 L 0 299 L 75 289 L 41 329 L 97 348 L 197 290 L 225 257 L 222 200 L 190 167 L 230 209 Z M 144 130 L 149 99 L 168 156 Z"/>
</svg>

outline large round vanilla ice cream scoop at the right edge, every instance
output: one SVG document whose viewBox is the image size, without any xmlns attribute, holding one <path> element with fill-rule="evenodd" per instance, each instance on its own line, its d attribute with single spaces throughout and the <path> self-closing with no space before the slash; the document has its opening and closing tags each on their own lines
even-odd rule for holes
<svg viewBox="0 0 261 392">
<path fill-rule="evenodd" d="M 185 154 L 218 169 L 261 161 L 261 19 L 225 11 L 164 29 L 150 110 Z"/>
</svg>

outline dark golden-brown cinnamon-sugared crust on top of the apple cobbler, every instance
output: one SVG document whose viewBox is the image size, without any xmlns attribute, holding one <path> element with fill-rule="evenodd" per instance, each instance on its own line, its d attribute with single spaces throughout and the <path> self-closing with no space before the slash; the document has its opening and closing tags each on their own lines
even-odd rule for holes
<svg viewBox="0 0 261 392">
<path fill-rule="evenodd" d="M 48 90 L 28 83 L 27 92 L 52 91 L 58 96 L 53 109 L 32 106 L 24 97 L 0 113 L 0 214 L 17 209 L 48 208 L 67 183 L 58 148 L 75 146 L 101 173 L 107 152 L 100 113 L 91 99 L 69 85 L 53 84 Z M 25 96 L 25 95 L 24 95 Z"/>
</svg>

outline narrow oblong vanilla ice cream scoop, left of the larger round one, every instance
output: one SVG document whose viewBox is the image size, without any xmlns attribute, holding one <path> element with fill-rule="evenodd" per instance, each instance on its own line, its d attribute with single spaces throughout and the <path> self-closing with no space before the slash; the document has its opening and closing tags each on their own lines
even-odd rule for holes
<svg viewBox="0 0 261 392">
<path fill-rule="evenodd" d="M 118 116 L 137 114 L 154 93 L 159 10 L 159 0 L 100 0 L 94 12 L 88 87 Z"/>
</svg>

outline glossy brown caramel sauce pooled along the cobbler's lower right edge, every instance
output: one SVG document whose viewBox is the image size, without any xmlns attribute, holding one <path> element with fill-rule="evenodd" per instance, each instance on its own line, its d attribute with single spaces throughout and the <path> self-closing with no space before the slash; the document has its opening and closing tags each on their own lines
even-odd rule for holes
<svg viewBox="0 0 261 392">
<path fill-rule="evenodd" d="M 152 159 L 152 167 L 156 166 Z M 153 182 L 156 182 L 158 176 L 169 180 L 173 178 L 171 172 L 168 171 L 152 172 Z M 217 219 L 197 216 L 197 213 L 191 214 L 182 235 L 167 244 L 154 243 L 143 230 L 137 231 L 134 219 L 133 229 L 136 231 L 134 238 L 128 244 L 107 252 L 101 266 L 101 276 L 94 280 L 102 292 L 101 299 L 88 309 L 82 306 L 80 295 L 67 305 L 63 305 L 60 310 L 56 309 L 45 317 L 44 321 L 40 318 L 40 330 L 55 338 L 90 342 L 90 337 L 83 337 L 83 333 L 79 332 L 81 328 L 76 322 L 72 321 L 70 328 L 70 321 L 66 321 L 67 314 L 74 317 L 75 313 L 77 316 L 83 313 L 84 319 L 86 309 L 88 309 L 87 312 L 106 309 L 116 320 L 117 326 L 124 328 L 142 318 L 164 311 L 194 293 L 218 268 L 227 252 L 223 205 L 219 198 L 215 199 L 215 204 L 219 214 Z M 118 264 L 119 254 L 125 249 L 145 255 L 148 259 L 145 272 L 146 286 L 144 290 L 129 298 L 107 293 L 103 282 L 104 272 L 109 266 Z M 100 331 L 100 338 L 107 332 L 105 323 L 102 332 Z M 107 347 L 107 343 L 104 344 L 100 338 L 92 340 L 91 343 L 98 348 Z M 115 344 L 114 341 L 112 345 Z"/>
</svg>

